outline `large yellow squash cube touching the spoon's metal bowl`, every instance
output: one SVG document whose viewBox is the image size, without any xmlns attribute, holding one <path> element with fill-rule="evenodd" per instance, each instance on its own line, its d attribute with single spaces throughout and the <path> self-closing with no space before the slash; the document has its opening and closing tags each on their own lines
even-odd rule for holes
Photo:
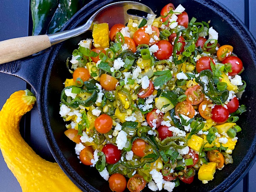
<svg viewBox="0 0 256 192">
<path fill-rule="evenodd" d="M 102 49 L 109 47 L 109 28 L 108 23 L 94 24 L 92 37 L 94 38 L 94 47 Z"/>
</svg>

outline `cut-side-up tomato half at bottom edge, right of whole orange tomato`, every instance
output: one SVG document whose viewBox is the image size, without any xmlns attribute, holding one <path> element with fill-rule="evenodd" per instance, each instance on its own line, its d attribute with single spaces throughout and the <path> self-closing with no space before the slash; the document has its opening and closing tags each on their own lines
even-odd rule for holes
<svg viewBox="0 0 256 192">
<path fill-rule="evenodd" d="M 127 188 L 130 192 L 140 192 L 145 188 L 146 181 L 143 176 L 135 174 L 133 177 L 129 178 L 127 183 Z"/>
</svg>

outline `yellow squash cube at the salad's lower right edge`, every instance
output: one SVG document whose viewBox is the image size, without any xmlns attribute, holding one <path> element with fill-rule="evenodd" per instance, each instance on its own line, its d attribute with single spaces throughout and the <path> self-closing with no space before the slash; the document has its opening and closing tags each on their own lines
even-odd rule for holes
<svg viewBox="0 0 256 192">
<path fill-rule="evenodd" d="M 198 179 L 201 181 L 213 180 L 217 163 L 209 162 L 207 165 L 203 164 L 198 171 Z"/>
</svg>

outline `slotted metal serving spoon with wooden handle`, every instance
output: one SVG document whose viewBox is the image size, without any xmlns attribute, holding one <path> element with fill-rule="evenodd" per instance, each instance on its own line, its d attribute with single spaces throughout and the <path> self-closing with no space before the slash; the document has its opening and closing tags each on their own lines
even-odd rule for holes
<svg viewBox="0 0 256 192">
<path fill-rule="evenodd" d="M 0 64 L 11 62 L 38 53 L 54 44 L 89 31 L 92 23 L 126 23 L 129 18 L 140 20 L 141 16 L 128 14 L 127 11 L 139 10 L 150 14 L 154 12 L 146 5 L 133 1 L 114 2 L 99 9 L 82 26 L 49 35 L 18 37 L 0 42 Z"/>
</svg>

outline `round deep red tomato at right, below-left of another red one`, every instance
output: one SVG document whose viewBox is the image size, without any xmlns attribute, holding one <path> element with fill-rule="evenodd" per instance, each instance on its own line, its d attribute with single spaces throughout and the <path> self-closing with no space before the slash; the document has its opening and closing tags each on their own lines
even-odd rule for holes
<svg viewBox="0 0 256 192">
<path fill-rule="evenodd" d="M 225 123 L 228 120 L 228 116 L 228 110 L 221 105 L 215 105 L 215 107 L 212 109 L 212 119 L 216 123 Z"/>
</svg>

